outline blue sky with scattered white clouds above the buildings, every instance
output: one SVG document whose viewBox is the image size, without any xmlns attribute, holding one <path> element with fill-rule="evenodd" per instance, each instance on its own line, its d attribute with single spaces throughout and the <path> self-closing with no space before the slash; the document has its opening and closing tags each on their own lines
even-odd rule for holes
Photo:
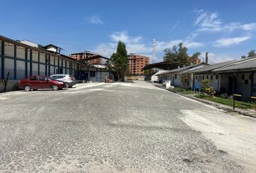
<svg viewBox="0 0 256 173">
<path fill-rule="evenodd" d="M 256 1 L 236 0 L 1 0 L 0 35 L 54 44 L 69 53 L 110 57 L 117 42 L 128 53 L 163 61 L 163 50 L 184 43 L 189 55 L 209 52 L 210 63 L 256 49 Z"/>
</svg>

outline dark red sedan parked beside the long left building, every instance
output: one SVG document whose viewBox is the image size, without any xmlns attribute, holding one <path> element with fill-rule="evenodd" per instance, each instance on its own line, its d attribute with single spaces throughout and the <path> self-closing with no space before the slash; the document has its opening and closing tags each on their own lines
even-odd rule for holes
<svg viewBox="0 0 256 173">
<path fill-rule="evenodd" d="M 54 81 L 49 79 L 47 76 L 29 76 L 22 79 L 19 83 L 20 89 L 25 89 L 26 92 L 38 89 L 63 89 L 65 84 L 61 81 Z"/>
</svg>

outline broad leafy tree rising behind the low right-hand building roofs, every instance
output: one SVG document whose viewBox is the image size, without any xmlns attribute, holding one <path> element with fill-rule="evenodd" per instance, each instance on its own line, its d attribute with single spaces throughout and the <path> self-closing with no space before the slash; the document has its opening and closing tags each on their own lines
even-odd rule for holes
<svg viewBox="0 0 256 173">
<path fill-rule="evenodd" d="M 166 48 L 163 50 L 164 57 L 168 62 L 171 63 L 180 63 L 181 65 L 190 65 L 192 60 L 198 58 L 201 53 L 194 53 L 192 56 L 187 54 L 187 48 L 183 46 L 183 43 L 179 43 L 179 45 L 174 45 L 173 48 Z"/>
</svg>

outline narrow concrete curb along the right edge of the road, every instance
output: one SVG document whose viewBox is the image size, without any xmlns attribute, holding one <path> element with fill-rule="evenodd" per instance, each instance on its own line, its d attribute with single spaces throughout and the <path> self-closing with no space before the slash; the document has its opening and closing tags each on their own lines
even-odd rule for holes
<svg viewBox="0 0 256 173">
<path fill-rule="evenodd" d="M 165 89 L 161 86 L 157 86 L 159 88 L 162 88 L 162 89 Z M 169 91 L 168 89 L 166 89 L 167 91 Z M 173 92 L 173 91 L 169 91 L 169 92 Z M 208 102 L 207 100 L 205 99 L 198 99 L 197 97 L 192 97 L 192 96 L 188 96 L 187 94 L 181 94 L 179 92 L 174 92 L 175 94 L 178 94 L 178 95 L 181 95 L 183 97 L 187 97 L 189 99 L 195 99 L 197 102 L 202 102 L 202 103 L 205 103 L 207 105 L 211 105 L 211 106 L 214 106 L 220 110 L 225 110 L 227 112 L 236 112 L 236 113 L 239 113 L 240 115 L 244 115 L 244 116 L 247 116 L 247 117 L 254 117 L 256 118 L 256 115 L 250 115 L 248 112 L 246 112 L 245 110 L 237 110 L 238 108 L 236 108 L 236 110 L 233 110 L 233 107 L 229 107 L 229 106 L 226 106 L 226 105 L 218 105 L 218 103 L 213 103 L 213 102 Z"/>
</svg>

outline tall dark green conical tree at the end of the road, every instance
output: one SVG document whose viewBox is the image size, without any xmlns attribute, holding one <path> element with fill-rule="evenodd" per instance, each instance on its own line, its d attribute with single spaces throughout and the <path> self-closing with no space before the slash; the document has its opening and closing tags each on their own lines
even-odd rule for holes
<svg viewBox="0 0 256 173">
<path fill-rule="evenodd" d="M 124 43 L 119 41 L 116 53 L 113 53 L 110 60 L 106 62 L 106 66 L 115 71 L 118 76 L 118 80 L 124 79 L 127 74 L 128 67 L 127 49 Z"/>
</svg>

